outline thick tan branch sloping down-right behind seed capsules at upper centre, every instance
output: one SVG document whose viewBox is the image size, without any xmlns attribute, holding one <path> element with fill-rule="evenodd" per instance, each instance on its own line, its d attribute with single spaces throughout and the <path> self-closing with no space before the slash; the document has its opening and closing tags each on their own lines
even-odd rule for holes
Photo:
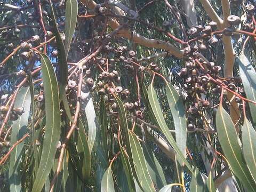
<svg viewBox="0 0 256 192">
<path fill-rule="evenodd" d="M 94 1 L 89 1 L 89 0 L 81 0 L 81 2 L 84 5 L 87 5 L 90 9 L 93 9 L 97 5 Z M 116 7 L 116 9 L 119 9 L 119 8 Z M 119 27 L 119 23 L 117 22 L 116 19 L 110 19 L 110 21 L 108 22 L 108 25 L 113 30 Z M 131 39 L 131 31 L 127 29 L 119 30 L 117 35 L 127 39 Z M 135 31 L 133 31 L 132 40 L 136 44 L 140 44 L 147 47 L 153 47 L 156 49 L 163 49 L 177 58 L 183 58 L 183 51 L 179 50 L 174 45 L 167 43 L 165 41 L 158 40 L 158 39 L 149 39 L 137 34 Z"/>
</svg>

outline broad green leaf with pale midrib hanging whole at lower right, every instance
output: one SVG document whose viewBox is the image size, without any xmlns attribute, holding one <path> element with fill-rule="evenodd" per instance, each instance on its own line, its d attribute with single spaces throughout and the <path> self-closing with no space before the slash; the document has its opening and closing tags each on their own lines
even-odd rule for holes
<svg viewBox="0 0 256 192">
<path fill-rule="evenodd" d="M 256 185 L 244 162 L 235 125 L 221 105 L 216 114 L 216 127 L 221 148 L 228 160 L 231 171 L 241 180 L 247 190 L 255 191 Z"/>
</svg>

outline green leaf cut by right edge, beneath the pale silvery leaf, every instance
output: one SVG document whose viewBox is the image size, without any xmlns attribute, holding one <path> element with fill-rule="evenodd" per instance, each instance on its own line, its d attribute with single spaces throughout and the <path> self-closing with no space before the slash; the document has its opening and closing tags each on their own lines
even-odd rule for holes
<svg viewBox="0 0 256 192">
<path fill-rule="evenodd" d="M 256 132 L 247 118 L 242 126 L 243 154 L 245 162 L 256 180 Z"/>
</svg>

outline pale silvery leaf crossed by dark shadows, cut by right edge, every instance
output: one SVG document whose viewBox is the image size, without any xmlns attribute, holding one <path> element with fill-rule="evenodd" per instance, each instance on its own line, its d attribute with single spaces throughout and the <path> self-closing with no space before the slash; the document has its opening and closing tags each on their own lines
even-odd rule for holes
<svg viewBox="0 0 256 192">
<path fill-rule="evenodd" d="M 256 101 L 256 72 L 249 60 L 242 53 L 238 59 L 239 72 L 243 82 L 244 91 L 247 99 Z M 256 106 L 249 102 L 249 108 L 251 111 L 252 121 L 256 126 Z"/>
</svg>

